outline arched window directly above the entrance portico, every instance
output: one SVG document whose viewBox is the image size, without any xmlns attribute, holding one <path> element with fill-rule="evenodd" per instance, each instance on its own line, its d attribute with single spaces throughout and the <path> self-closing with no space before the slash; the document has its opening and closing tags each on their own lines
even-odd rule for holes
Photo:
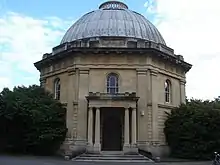
<svg viewBox="0 0 220 165">
<path fill-rule="evenodd" d="M 111 73 L 107 77 L 107 93 L 118 93 L 118 75 L 115 73 Z"/>
</svg>

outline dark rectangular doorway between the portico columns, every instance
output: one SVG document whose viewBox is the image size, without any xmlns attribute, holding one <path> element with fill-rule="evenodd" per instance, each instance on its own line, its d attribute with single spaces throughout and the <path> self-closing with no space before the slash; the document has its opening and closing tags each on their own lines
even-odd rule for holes
<svg viewBox="0 0 220 165">
<path fill-rule="evenodd" d="M 101 112 L 102 151 L 122 151 L 123 109 L 104 108 Z"/>
</svg>

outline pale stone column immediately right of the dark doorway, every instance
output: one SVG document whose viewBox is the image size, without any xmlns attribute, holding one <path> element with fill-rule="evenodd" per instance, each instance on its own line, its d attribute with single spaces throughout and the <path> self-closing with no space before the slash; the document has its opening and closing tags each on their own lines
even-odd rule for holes
<svg viewBox="0 0 220 165">
<path fill-rule="evenodd" d="M 129 110 L 125 108 L 125 118 L 124 118 L 124 148 L 129 147 L 130 144 L 130 134 L 129 134 Z M 124 149 L 125 150 L 125 149 Z"/>
</svg>

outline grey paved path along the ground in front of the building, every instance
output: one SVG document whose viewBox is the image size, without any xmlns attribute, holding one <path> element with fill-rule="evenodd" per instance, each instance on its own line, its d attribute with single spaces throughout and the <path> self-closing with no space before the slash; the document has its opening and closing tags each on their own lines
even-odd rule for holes
<svg viewBox="0 0 220 165">
<path fill-rule="evenodd" d="M 211 165 L 211 162 L 172 162 L 172 163 L 106 163 L 72 162 L 51 157 L 0 156 L 0 165 Z"/>
</svg>

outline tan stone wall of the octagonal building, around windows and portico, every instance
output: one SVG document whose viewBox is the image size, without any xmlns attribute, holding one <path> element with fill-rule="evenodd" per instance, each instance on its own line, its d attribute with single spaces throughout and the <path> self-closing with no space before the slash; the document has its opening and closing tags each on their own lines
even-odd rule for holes
<svg viewBox="0 0 220 165">
<path fill-rule="evenodd" d="M 151 55 L 75 54 L 43 68 L 41 78 L 46 80 L 45 88 L 50 92 L 54 92 L 54 80 L 60 78 L 60 101 L 67 103 L 67 138 L 74 144 L 86 144 L 85 97 L 89 92 L 105 93 L 106 77 L 111 72 L 119 75 L 119 92 L 136 92 L 140 97 L 137 108 L 138 145 L 155 153 L 166 153 L 163 134 L 165 112 L 184 102 L 185 74 L 181 68 Z M 166 79 L 171 82 L 171 103 L 165 103 Z"/>
</svg>

